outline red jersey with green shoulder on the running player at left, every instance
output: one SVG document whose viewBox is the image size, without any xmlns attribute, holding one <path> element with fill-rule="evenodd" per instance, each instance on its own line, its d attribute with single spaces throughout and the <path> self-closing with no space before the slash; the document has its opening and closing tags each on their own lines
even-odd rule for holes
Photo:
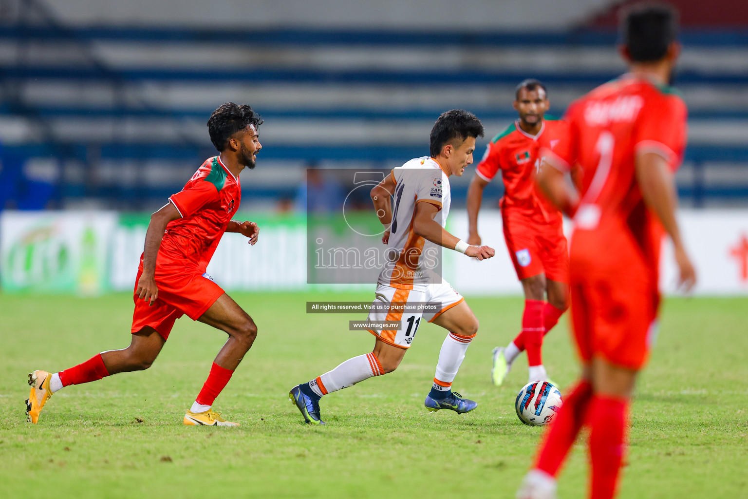
<svg viewBox="0 0 748 499">
<path fill-rule="evenodd" d="M 157 265 L 193 267 L 205 272 L 221 236 L 239 209 L 242 186 L 219 156 L 206 159 L 184 189 L 169 200 L 182 218 L 169 222 Z"/>
</svg>

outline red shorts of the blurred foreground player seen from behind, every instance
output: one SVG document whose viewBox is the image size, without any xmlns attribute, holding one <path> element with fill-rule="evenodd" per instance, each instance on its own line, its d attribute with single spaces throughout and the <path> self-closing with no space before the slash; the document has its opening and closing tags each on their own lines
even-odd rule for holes
<svg viewBox="0 0 748 499">
<path fill-rule="evenodd" d="M 571 322 L 574 340 L 584 363 L 594 357 L 610 364 L 640 370 L 649 358 L 657 333 L 660 295 L 656 287 L 625 272 L 618 278 L 595 278 L 572 269 Z"/>
</svg>

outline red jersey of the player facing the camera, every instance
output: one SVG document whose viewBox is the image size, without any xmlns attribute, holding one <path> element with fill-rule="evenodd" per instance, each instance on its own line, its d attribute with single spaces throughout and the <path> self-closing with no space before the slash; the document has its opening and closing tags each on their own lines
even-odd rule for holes
<svg viewBox="0 0 748 499">
<path fill-rule="evenodd" d="M 501 170 L 502 210 L 521 212 L 537 222 L 562 223 L 561 212 L 537 190 L 535 174 L 540 166 L 539 150 L 542 147 L 553 149 L 560 138 L 567 135 L 567 129 L 563 121 L 546 119 L 538 135 L 530 135 L 515 121 L 491 140 L 476 174 L 490 182 Z"/>
</svg>

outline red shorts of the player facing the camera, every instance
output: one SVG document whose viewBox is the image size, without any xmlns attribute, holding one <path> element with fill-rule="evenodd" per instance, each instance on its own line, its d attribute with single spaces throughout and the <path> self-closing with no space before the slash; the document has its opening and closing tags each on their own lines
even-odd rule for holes
<svg viewBox="0 0 748 499">
<path fill-rule="evenodd" d="M 568 283 L 568 245 L 562 224 L 534 224 L 506 210 L 501 218 L 506 248 L 520 281 L 545 273 L 551 281 Z"/>
</svg>

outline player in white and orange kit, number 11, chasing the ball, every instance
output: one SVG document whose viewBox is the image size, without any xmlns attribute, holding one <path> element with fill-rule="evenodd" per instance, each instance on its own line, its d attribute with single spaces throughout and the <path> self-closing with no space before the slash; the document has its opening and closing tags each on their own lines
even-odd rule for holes
<svg viewBox="0 0 748 499">
<path fill-rule="evenodd" d="M 292 388 L 289 399 L 307 423 L 322 423 L 322 396 L 395 370 L 424 319 L 450 331 L 441 346 L 432 390 L 424 405 L 429 411 L 448 408 L 458 413 L 476 408 L 476 402 L 453 393 L 451 386 L 478 331 L 478 319 L 465 299 L 441 279 L 435 266 L 442 246 L 478 260 L 494 256 L 492 248 L 470 246 L 444 229 L 450 211 L 449 177 L 462 176 L 473 162 L 475 139 L 482 135 L 483 126 L 474 114 L 447 111 L 431 131 L 431 156 L 411 159 L 372 189 L 375 212 L 387 229 L 382 242 L 391 257 L 379 274 L 368 320 L 399 322 L 399 328 L 371 329 L 376 338 L 373 352 L 349 358 Z M 438 310 L 412 306 L 426 302 L 441 306 Z"/>
</svg>

